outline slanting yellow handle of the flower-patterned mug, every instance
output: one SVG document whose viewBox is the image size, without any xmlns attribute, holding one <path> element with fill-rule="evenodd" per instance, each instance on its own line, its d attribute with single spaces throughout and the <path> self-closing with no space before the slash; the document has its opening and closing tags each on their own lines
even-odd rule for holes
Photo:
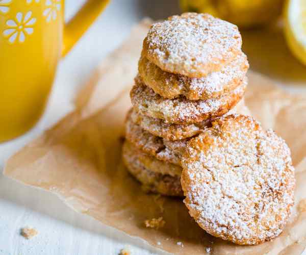
<svg viewBox="0 0 306 255">
<path fill-rule="evenodd" d="M 69 52 L 109 2 L 110 0 L 87 0 L 79 12 L 65 24 L 62 56 Z"/>
</svg>

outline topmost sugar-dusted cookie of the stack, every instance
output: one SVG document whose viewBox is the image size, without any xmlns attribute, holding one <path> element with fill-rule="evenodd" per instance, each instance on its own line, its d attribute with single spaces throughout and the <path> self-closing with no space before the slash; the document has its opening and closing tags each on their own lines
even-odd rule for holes
<svg viewBox="0 0 306 255">
<path fill-rule="evenodd" d="M 200 78 L 231 63 L 241 44 L 236 25 L 209 14 L 183 13 L 152 24 L 143 54 L 164 71 Z"/>
</svg>

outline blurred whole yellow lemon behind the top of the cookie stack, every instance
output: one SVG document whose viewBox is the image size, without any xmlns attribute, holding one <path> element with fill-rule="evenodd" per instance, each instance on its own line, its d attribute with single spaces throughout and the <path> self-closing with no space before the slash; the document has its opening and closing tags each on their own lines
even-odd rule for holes
<svg viewBox="0 0 306 255">
<path fill-rule="evenodd" d="M 284 0 L 180 0 L 184 12 L 210 13 L 240 28 L 268 23 L 282 13 Z"/>
</svg>

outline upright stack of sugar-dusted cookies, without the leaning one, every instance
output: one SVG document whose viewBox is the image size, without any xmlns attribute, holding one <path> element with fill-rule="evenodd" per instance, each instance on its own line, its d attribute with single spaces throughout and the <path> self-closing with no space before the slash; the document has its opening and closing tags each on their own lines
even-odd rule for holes
<svg viewBox="0 0 306 255">
<path fill-rule="evenodd" d="M 246 111 L 249 66 L 241 44 L 236 25 L 208 14 L 184 13 L 151 26 L 123 146 L 124 164 L 146 189 L 182 196 L 187 142 L 213 119 Z"/>
</svg>

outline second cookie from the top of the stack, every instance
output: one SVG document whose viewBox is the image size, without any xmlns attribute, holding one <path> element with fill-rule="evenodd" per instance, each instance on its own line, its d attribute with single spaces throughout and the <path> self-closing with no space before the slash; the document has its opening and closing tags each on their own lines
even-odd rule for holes
<svg viewBox="0 0 306 255">
<path fill-rule="evenodd" d="M 220 71 L 209 73 L 207 77 L 188 78 L 165 72 L 142 55 L 138 72 L 144 84 L 163 97 L 184 95 L 189 100 L 205 100 L 235 89 L 245 77 L 248 67 L 246 56 L 241 53 Z"/>
</svg>

